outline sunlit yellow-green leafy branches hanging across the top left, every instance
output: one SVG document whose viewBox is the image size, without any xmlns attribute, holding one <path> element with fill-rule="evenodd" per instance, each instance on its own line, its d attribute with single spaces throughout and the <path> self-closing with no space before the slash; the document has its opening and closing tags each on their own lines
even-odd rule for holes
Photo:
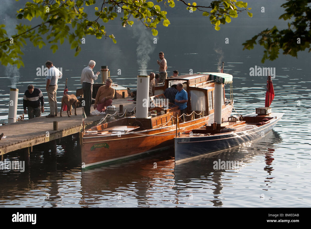
<svg viewBox="0 0 311 229">
<path fill-rule="evenodd" d="M 94 35 L 98 39 L 109 37 L 116 43 L 114 35 L 109 35 L 104 23 L 118 17 L 124 27 L 132 26 L 134 21 L 141 21 L 156 36 L 156 26 L 159 23 L 164 26 L 170 24 L 167 12 L 161 10 L 157 3 L 164 8 L 174 7 L 177 1 L 185 6 L 185 10 L 201 11 L 202 16 L 207 17 L 216 30 L 220 30 L 220 24 L 229 23 L 231 18 L 238 17 L 239 12 L 247 11 L 248 16 L 252 17 L 252 13 L 248 12 L 251 8 L 247 8 L 247 2 L 236 0 L 214 0 L 208 1 L 206 5 L 187 3 L 184 0 L 33 0 L 27 2 L 23 9 L 17 10 L 16 15 L 21 21 L 39 17 L 38 25 L 26 25 L 22 22 L 16 25 L 17 33 L 12 37 L 7 36 L 5 25 L 0 25 L 1 64 L 16 64 L 18 68 L 24 66 L 21 48 L 28 39 L 39 48 L 46 45 L 44 41 L 47 41 L 51 44 L 53 53 L 58 49 L 58 41 L 63 44 L 66 39 L 71 48 L 76 50 L 75 56 L 79 54 L 81 39 L 86 35 Z M 86 7 L 92 9 L 94 16 L 85 12 Z M 95 20 L 92 21 L 91 17 Z M 43 38 L 45 35 L 46 38 Z"/>
</svg>

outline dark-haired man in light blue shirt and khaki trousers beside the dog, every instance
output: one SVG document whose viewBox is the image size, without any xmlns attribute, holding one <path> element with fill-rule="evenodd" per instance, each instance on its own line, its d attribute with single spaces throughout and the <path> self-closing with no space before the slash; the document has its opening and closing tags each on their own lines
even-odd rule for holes
<svg viewBox="0 0 311 229">
<path fill-rule="evenodd" d="M 53 66 L 51 61 L 45 62 L 45 66 L 49 69 L 49 73 L 45 78 L 46 91 L 48 92 L 50 114 L 45 116 L 46 118 L 53 118 L 57 116 L 57 101 L 56 91 L 58 88 L 58 78 L 62 77 L 62 73 Z"/>
</svg>

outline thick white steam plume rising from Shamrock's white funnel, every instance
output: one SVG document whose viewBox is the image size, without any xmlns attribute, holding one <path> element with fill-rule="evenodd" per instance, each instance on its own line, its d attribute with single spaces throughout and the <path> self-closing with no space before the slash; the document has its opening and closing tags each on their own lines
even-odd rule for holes
<svg viewBox="0 0 311 229">
<path fill-rule="evenodd" d="M 134 36 L 138 37 L 137 41 L 137 63 L 141 67 L 142 75 L 147 75 L 147 66 L 150 60 L 149 55 L 155 50 L 155 45 L 153 44 L 153 36 L 151 31 L 149 31 L 144 25 L 137 23 L 138 25 L 134 28 Z"/>
</svg>

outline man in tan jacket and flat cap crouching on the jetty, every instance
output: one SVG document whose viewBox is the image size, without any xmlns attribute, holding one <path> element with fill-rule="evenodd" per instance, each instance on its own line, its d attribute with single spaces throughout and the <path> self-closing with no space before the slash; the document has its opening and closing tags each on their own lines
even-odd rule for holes
<svg viewBox="0 0 311 229">
<path fill-rule="evenodd" d="M 114 98 L 114 88 L 110 87 L 112 79 L 107 79 L 106 84 L 101 86 L 96 94 L 94 110 L 97 109 L 99 112 L 104 112 L 107 106 L 112 104 Z"/>
</svg>

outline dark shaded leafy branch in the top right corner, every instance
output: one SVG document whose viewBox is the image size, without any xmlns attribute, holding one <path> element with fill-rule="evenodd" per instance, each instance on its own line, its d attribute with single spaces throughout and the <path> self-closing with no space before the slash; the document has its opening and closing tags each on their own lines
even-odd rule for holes
<svg viewBox="0 0 311 229">
<path fill-rule="evenodd" d="M 311 51 L 311 0 L 287 0 L 281 7 L 285 8 L 284 14 L 279 19 L 290 20 L 288 28 L 278 30 L 276 26 L 271 29 L 261 31 L 252 39 L 243 43 L 244 49 L 253 49 L 254 45 L 262 45 L 265 50 L 261 62 L 265 60 L 275 60 L 278 58 L 279 50 L 283 54 L 297 57 L 297 52 L 309 48 Z M 308 6 L 309 5 L 309 6 Z"/>
</svg>

